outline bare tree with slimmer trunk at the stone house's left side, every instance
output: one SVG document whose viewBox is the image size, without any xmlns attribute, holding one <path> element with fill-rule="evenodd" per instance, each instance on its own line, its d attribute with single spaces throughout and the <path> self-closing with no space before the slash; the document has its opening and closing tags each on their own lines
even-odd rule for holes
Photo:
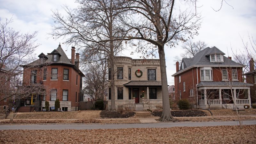
<svg viewBox="0 0 256 144">
<path fill-rule="evenodd" d="M 122 10 L 116 9 L 120 1 L 115 0 L 77 0 L 79 7 L 70 10 L 64 7 L 67 17 L 63 17 L 58 11 L 53 12 L 53 19 L 57 25 L 53 27 L 52 35 L 56 38 L 65 37 L 66 44 L 75 44 L 84 51 L 87 62 L 99 59 L 90 59 L 95 54 L 103 54 L 100 57 L 108 61 L 111 85 L 111 110 L 116 110 L 115 105 L 115 56 L 121 50 L 122 39 L 115 40 L 117 36 L 125 36 L 118 25 L 118 15 Z M 86 63 L 85 63 L 86 64 Z"/>
</svg>

